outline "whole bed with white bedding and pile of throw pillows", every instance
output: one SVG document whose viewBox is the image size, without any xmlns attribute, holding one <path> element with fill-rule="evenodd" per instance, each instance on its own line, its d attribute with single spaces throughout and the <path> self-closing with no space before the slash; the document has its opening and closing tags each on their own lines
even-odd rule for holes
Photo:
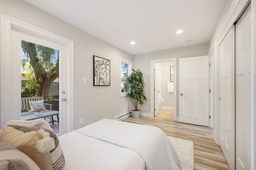
<svg viewBox="0 0 256 170">
<path fill-rule="evenodd" d="M 188 161 L 181 156 L 177 143 L 184 145 L 174 142 L 179 158 L 170 137 L 153 126 L 102 119 L 57 137 L 44 120 L 7 121 L 5 124 L 0 132 L 0 166 L 9 166 L 10 162 L 20 166 L 23 162 L 20 170 L 180 170 L 194 167 L 193 164 L 191 168 L 184 167 Z M 17 160 L 18 154 L 25 154 L 27 158 L 19 156 Z"/>
</svg>

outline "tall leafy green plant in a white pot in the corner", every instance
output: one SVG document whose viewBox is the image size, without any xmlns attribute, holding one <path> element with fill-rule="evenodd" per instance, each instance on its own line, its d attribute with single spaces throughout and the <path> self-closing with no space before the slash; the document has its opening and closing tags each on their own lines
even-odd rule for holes
<svg viewBox="0 0 256 170">
<path fill-rule="evenodd" d="M 127 93 L 127 96 L 133 99 L 134 105 L 134 110 L 132 110 L 132 117 L 139 118 L 140 110 L 138 109 L 138 103 L 143 105 L 144 101 L 147 100 L 146 96 L 144 95 L 143 74 L 140 69 L 132 69 L 132 73 L 129 75 L 127 83 L 128 89 L 130 89 L 130 91 Z"/>
</svg>

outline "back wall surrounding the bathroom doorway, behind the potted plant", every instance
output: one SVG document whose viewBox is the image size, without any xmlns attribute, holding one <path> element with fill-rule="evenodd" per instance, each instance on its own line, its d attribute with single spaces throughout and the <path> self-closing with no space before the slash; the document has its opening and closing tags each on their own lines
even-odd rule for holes
<svg viewBox="0 0 256 170">
<path fill-rule="evenodd" d="M 163 51 L 155 51 L 152 53 L 144 53 L 133 56 L 133 67 L 134 69 L 140 69 L 146 78 L 145 82 L 145 95 L 148 101 L 140 107 L 140 111 L 143 113 L 150 113 L 150 60 L 166 59 L 166 58 L 177 58 L 177 106 L 179 105 L 179 59 L 186 57 L 197 57 L 208 55 L 208 43 L 191 45 L 187 47 L 168 49 Z M 179 115 L 179 108 L 177 107 L 177 116 Z"/>
</svg>

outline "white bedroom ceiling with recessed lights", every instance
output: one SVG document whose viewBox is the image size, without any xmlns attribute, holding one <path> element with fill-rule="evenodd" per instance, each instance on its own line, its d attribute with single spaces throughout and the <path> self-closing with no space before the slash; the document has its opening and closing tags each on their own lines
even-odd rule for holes
<svg viewBox="0 0 256 170">
<path fill-rule="evenodd" d="M 225 0 L 25 1 L 132 55 L 209 42 L 225 2 Z M 184 32 L 176 34 L 180 29 Z M 131 45 L 131 41 L 136 44 Z"/>
</svg>

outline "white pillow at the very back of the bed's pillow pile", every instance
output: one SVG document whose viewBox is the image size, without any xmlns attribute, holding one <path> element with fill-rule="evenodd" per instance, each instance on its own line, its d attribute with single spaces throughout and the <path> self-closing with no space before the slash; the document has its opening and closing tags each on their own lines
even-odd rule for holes
<svg viewBox="0 0 256 170">
<path fill-rule="evenodd" d="M 49 123 L 45 120 L 42 120 L 42 119 L 36 119 L 36 120 L 32 120 L 32 121 L 21 121 L 21 120 L 7 121 L 4 124 L 6 126 L 8 126 L 8 125 L 19 125 L 19 126 L 23 126 L 23 127 L 38 128 L 38 129 L 46 128 L 46 129 L 49 129 L 49 130 L 53 131 L 51 126 L 49 125 Z"/>
</svg>

